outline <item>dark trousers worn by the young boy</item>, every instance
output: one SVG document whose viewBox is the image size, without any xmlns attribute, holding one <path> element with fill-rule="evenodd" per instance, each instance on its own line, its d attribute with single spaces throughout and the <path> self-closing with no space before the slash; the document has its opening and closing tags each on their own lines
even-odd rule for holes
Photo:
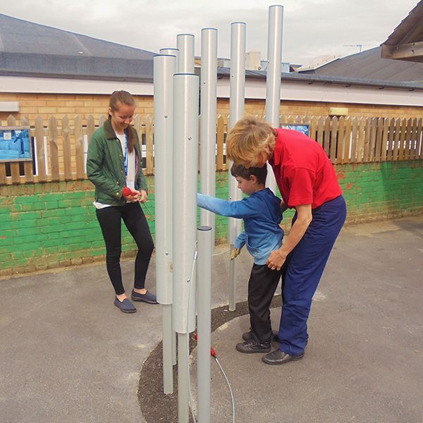
<svg viewBox="0 0 423 423">
<path fill-rule="evenodd" d="M 270 303 L 283 274 L 281 270 L 271 270 L 266 264 L 253 264 L 248 281 L 248 309 L 250 326 L 255 341 L 270 343 L 272 331 Z"/>
</svg>

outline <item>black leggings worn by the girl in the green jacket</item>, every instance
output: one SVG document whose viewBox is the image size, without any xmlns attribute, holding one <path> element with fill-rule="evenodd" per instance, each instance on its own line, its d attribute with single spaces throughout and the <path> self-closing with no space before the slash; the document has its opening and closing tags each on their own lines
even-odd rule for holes
<svg viewBox="0 0 423 423">
<path fill-rule="evenodd" d="M 121 219 L 137 243 L 138 252 L 135 258 L 134 287 L 145 287 L 145 276 L 154 249 L 152 234 L 149 231 L 140 203 L 127 203 L 124 206 L 111 206 L 96 210 L 97 219 L 102 228 L 106 244 L 106 266 L 116 295 L 125 293 L 121 274 Z"/>
</svg>

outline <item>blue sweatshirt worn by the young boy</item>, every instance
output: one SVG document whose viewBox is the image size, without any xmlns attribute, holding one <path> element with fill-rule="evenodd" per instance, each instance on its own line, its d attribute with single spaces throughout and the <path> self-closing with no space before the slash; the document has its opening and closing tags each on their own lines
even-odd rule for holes
<svg viewBox="0 0 423 423">
<path fill-rule="evenodd" d="M 244 219 L 245 232 L 240 233 L 233 245 L 247 250 L 255 264 L 266 264 L 272 251 L 282 245 L 283 230 L 281 200 L 269 188 L 253 192 L 240 201 L 226 201 L 209 195 L 197 194 L 197 204 L 202 209 L 222 216 Z"/>
</svg>

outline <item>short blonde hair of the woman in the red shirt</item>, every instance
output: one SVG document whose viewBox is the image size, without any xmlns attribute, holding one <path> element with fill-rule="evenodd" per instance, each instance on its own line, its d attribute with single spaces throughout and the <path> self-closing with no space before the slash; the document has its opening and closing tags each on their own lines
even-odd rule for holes
<svg viewBox="0 0 423 423">
<path fill-rule="evenodd" d="M 269 156 L 276 142 L 275 129 L 255 116 L 240 119 L 226 137 L 226 157 L 245 167 L 255 166 L 262 153 Z"/>
</svg>

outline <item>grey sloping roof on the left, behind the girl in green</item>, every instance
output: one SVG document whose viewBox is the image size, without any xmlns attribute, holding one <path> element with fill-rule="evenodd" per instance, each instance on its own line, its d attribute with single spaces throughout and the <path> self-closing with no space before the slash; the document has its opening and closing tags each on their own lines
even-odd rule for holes
<svg viewBox="0 0 423 423">
<path fill-rule="evenodd" d="M 0 14 L 0 75 L 152 79 L 151 51 Z"/>
</svg>

